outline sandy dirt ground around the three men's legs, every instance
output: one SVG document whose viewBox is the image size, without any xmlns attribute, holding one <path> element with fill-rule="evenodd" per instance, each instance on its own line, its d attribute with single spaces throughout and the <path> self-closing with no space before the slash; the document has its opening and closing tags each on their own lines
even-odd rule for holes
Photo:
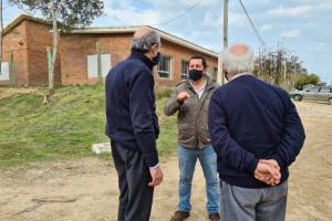
<svg viewBox="0 0 332 221">
<path fill-rule="evenodd" d="M 297 107 L 307 140 L 290 167 L 287 220 L 332 220 L 332 106 L 300 102 Z M 155 189 L 152 221 L 168 221 L 178 203 L 176 154 L 162 159 L 160 166 L 165 178 Z M 30 164 L 0 171 L 0 196 L 1 221 L 116 220 L 117 176 L 111 157 L 110 162 L 81 159 Z M 207 221 L 206 202 L 205 179 L 197 164 L 187 220 Z M 18 214 L 34 206 L 39 208 Z"/>
</svg>

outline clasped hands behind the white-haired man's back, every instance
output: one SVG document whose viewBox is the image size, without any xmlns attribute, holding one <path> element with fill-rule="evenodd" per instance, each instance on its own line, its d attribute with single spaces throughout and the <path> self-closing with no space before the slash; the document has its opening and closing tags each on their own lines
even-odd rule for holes
<svg viewBox="0 0 332 221">
<path fill-rule="evenodd" d="M 276 186 L 280 182 L 281 173 L 274 167 L 258 162 L 258 166 L 253 172 L 256 179 L 266 182 L 267 185 Z"/>
</svg>

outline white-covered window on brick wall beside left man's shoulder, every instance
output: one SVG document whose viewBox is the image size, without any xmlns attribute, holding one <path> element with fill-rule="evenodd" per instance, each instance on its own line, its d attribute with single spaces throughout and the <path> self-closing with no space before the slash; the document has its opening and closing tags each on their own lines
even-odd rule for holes
<svg viewBox="0 0 332 221">
<path fill-rule="evenodd" d="M 102 77 L 106 77 L 111 70 L 111 54 L 101 54 L 102 57 Z M 87 76 L 89 78 L 98 77 L 97 55 L 87 55 Z"/>
</svg>

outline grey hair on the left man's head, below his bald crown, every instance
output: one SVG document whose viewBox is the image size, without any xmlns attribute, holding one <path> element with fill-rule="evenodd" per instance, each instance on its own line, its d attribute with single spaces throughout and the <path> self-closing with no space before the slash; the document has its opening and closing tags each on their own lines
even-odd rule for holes
<svg viewBox="0 0 332 221">
<path fill-rule="evenodd" d="M 132 51 L 141 51 L 145 54 L 152 50 L 154 44 L 157 44 L 158 48 L 160 46 L 160 36 L 155 30 L 147 32 L 141 38 L 135 38 L 134 34 L 132 40 Z"/>
</svg>

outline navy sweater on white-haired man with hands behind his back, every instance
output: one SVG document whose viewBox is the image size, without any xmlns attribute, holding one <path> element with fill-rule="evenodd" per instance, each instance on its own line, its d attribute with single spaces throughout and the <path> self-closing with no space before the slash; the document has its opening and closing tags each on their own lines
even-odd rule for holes
<svg viewBox="0 0 332 221">
<path fill-rule="evenodd" d="M 305 138 L 287 92 L 251 75 L 214 92 L 208 125 L 220 178 L 242 188 L 271 187 L 253 177 L 259 159 L 277 160 L 287 180 Z"/>
</svg>

